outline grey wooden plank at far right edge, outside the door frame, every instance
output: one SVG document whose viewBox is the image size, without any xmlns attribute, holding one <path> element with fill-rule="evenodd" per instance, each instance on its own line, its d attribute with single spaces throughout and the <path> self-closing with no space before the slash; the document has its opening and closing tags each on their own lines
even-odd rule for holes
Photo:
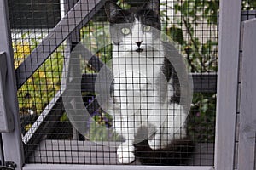
<svg viewBox="0 0 256 170">
<path fill-rule="evenodd" d="M 253 169 L 256 135 L 256 19 L 243 22 L 238 169 Z"/>
</svg>

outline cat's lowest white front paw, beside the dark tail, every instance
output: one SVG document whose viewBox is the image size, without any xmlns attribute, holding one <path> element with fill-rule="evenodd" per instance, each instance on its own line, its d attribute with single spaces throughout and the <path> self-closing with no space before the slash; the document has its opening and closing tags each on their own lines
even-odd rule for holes
<svg viewBox="0 0 256 170">
<path fill-rule="evenodd" d="M 119 146 L 117 150 L 119 163 L 129 164 L 135 161 L 134 147 L 133 146 Z"/>
</svg>

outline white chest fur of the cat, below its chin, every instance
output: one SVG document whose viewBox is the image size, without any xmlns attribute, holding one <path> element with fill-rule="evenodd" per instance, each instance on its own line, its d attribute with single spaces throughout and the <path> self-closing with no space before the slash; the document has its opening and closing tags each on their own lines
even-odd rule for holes
<svg viewBox="0 0 256 170">
<path fill-rule="evenodd" d="M 154 101 L 163 59 L 157 52 L 113 52 L 114 98 L 123 114 L 134 115 Z"/>
</svg>

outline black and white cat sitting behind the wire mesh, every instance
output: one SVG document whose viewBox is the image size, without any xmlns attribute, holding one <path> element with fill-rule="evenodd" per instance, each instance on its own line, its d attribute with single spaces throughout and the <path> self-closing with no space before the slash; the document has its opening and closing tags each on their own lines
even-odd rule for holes
<svg viewBox="0 0 256 170">
<path fill-rule="evenodd" d="M 113 42 L 113 100 L 118 105 L 109 114 L 125 139 L 117 149 L 118 161 L 128 164 L 135 155 L 143 157 L 135 148 L 142 141 L 148 150 L 160 151 L 173 148 L 179 139 L 190 144 L 177 72 L 160 39 L 159 0 L 126 10 L 107 1 L 105 11 Z"/>
</svg>

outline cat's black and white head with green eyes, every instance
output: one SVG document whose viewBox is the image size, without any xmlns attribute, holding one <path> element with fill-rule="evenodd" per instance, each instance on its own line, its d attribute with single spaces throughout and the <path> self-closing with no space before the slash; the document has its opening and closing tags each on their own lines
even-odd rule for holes
<svg viewBox="0 0 256 170">
<path fill-rule="evenodd" d="M 123 10 L 108 2 L 105 5 L 113 44 L 119 51 L 141 53 L 150 51 L 160 41 L 158 1 L 149 1 L 141 8 Z"/>
</svg>

